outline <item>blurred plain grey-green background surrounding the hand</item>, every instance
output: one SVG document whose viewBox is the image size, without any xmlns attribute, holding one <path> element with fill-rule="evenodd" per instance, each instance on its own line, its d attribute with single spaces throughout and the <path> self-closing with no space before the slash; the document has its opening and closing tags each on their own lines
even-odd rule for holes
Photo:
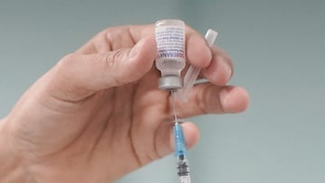
<svg viewBox="0 0 325 183">
<path fill-rule="evenodd" d="M 179 18 L 218 30 L 232 56 L 231 85 L 246 87 L 245 113 L 192 118 L 192 182 L 325 182 L 325 1 L 0 1 L 0 118 L 64 55 L 120 24 Z M 163 158 L 122 182 L 177 182 Z"/>
</svg>

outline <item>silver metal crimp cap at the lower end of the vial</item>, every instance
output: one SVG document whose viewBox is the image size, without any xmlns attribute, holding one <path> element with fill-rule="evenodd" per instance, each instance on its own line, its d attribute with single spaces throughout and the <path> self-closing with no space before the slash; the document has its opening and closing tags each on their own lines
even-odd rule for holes
<svg viewBox="0 0 325 183">
<path fill-rule="evenodd" d="M 174 90 L 182 87 L 181 77 L 179 76 L 164 76 L 159 78 L 159 88 L 165 90 Z"/>
</svg>

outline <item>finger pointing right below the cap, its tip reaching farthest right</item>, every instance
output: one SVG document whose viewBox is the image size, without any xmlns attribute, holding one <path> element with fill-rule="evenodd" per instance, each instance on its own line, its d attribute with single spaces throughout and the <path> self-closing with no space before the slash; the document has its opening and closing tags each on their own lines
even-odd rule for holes
<svg viewBox="0 0 325 183">
<path fill-rule="evenodd" d="M 187 118 L 200 114 L 240 113 L 246 110 L 248 103 L 249 96 L 242 87 L 204 83 L 193 87 L 187 102 L 176 100 L 176 107 L 178 116 Z"/>
</svg>

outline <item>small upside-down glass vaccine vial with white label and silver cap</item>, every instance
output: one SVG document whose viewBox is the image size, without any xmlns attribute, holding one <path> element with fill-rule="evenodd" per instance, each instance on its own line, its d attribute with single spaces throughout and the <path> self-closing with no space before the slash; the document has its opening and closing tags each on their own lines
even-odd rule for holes
<svg viewBox="0 0 325 183">
<path fill-rule="evenodd" d="M 181 88 L 181 70 L 185 67 L 185 23 L 173 19 L 156 22 L 155 41 L 158 53 L 155 66 L 162 73 L 159 88 Z"/>
</svg>

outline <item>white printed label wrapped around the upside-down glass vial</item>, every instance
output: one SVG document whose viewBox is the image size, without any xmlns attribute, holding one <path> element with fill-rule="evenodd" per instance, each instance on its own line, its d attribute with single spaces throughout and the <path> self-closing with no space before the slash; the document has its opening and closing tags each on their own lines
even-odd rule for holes
<svg viewBox="0 0 325 183">
<path fill-rule="evenodd" d="M 184 29 L 181 26 L 164 25 L 155 28 L 158 58 L 184 59 Z"/>
</svg>

